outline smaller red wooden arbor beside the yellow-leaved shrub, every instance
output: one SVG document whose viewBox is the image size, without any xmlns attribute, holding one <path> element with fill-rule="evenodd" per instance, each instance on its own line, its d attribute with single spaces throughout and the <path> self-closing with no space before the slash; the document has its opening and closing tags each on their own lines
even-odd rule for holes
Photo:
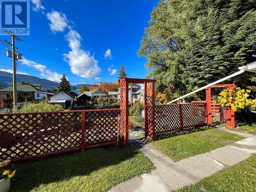
<svg viewBox="0 0 256 192">
<path fill-rule="evenodd" d="M 207 124 L 212 125 L 212 116 L 211 116 L 211 88 L 228 88 L 234 90 L 235 84 L 215 84 L 214 86 L 210 86 L 206 88 L 206 103 L 207 103 L 207 112 L 206 112 L 206 120 Z M 226 111 L 226 119 L 227 125 L 234 128 L 234 111 L 229 107 L 225 109 Z"/>
</svg>

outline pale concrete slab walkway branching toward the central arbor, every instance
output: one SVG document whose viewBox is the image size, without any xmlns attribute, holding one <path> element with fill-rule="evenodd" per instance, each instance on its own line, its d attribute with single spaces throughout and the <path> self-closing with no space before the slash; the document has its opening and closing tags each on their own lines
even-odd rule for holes
<svg viewBox="0 0 256 192">
<path fill-rule="evenodd" d="M 248 136 L 227 146 L 178 162 L 159 152 L 150 143 L 139 145 L 138 148 L 153 162 L 156 169 L 150 174 L 122 182 L 110 191 L 170 191 L 197 183 L 204 177 L 215 174 L 224 167 L 237 164 L 256 153 L 256 136 Z"/>
</svg>

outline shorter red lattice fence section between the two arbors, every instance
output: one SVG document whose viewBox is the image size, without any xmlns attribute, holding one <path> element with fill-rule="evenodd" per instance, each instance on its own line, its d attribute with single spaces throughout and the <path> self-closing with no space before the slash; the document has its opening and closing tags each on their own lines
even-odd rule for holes
<svg viewBox="0 0 256 192">
<path fill-rule="evenodd" d="M 175 132 L 206 124 L 206 103 L 156 105 L 156 134 Z"/>
</svg>

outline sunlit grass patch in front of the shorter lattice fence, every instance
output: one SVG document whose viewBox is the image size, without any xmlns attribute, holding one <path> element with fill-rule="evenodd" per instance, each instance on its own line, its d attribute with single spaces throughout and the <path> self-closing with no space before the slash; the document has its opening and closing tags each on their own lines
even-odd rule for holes
<svg viewBox="0 0 256 192">
<path fill-rule="evenodd" d="M 163 136 L 152 144 L 174 161 L 179 161 L 209 152 L 243 138 L 218 129 L 199 127 Z"/>
</svg>

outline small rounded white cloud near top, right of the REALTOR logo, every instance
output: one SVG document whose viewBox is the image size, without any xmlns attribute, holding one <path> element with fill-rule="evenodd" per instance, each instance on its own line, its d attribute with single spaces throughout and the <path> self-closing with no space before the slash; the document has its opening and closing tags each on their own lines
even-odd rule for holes
<svg viewBox="0 0 256 192">
<path fill-rule="evenodd" d="M 58 11 L 52 11 L 46 14 L 47 18 L 50 20 L 50 30 L 52 32 L 62 32 L 66 27 L 68 27 L 68 20 L 64 13 Z"/>
</svg>

